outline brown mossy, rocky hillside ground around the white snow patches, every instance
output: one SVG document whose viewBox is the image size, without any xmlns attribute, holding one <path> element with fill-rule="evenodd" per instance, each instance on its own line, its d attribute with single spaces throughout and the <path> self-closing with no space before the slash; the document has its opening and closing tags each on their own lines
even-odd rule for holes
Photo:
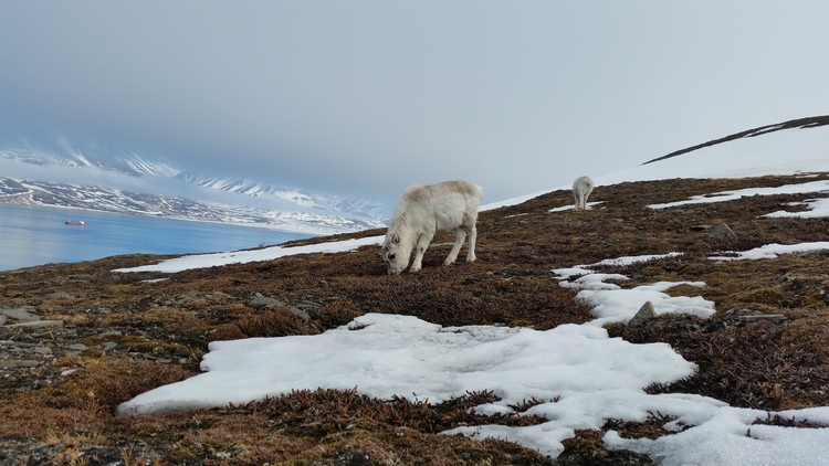
<svg viewBox="0 0 829 466">
<path fill-rule="evenodd" d="M 376 246 L 178 274 L 112 272 L 164 258 L 148 255 L 0 273 L 0 464 L 650 464 L 605 449 L 602 430 L 577 432 L 556 459 L 508 442 L 439 435 L 458 425 L 544 421 L 475 414 L 470 407 L 495 399 L 485 386 L 440 404 L 318 390 L 217 410 L 126 417 L 113 410 L 197 373 L 213 340 L 313 335 L 369 311 L 444 326 L 548 329 L 585 322 L 589 308 L 575 300 L 576 290 L 552 278 L 552 268 L 670 252 L 684 254 L 602 269 L 630 277 L 625 287 L 705 282 L 692 293 L 716 305 L 710 319 L 662 316 L 641 327 L 608 327 L 629 341 L 669 342 L 699 364 L 695 375 L 649 391 L 700 393 L 766 410 L 827 405 L 829 251 L 707 260 L 768 243 L 827 241 L 827 219 L 760 216 L 802 209 L 790 203 L 814 195 L 646 208 L 797 182 L 804 178 L 622 183 L 597 188 L 590 201 L 602 203 L 595 209 L 548 212 L 571 203 L 569 192 L 556 191 L 483 212 L 478 262 L 441 267 L 451 243 L 445 235 L 436 239 L 420 273 L 400 276 L 385 275 Z M 710 234 L 723 223 L 733 236 Z M 683 292 L 689 293 L 683 287 L 669 293 Z M 604 430 L 655 437 L 665 435 L 664 422 L 610 420 Z"/>
</svg>

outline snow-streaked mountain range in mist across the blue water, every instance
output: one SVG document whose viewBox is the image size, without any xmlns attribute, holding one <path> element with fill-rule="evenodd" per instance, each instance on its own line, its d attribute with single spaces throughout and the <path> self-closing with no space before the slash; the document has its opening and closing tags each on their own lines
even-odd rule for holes
<svg viewBox="0 0 829 466">
<path fill-rule="evenodd" d="M 0 149 L 0 202 L 334 234 L 385 225 L 386 208 L 179 169 L 130 151 L 61 144 Z"/>
</svg>

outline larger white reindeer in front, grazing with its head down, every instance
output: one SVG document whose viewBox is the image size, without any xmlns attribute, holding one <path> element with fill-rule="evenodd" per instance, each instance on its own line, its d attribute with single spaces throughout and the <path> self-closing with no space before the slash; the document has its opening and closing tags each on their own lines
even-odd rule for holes
<svg viewBox="0 0 829 466">
<path fill-rule="evenodd" d="M 442 231 L 454 232 L 454 244 L 443 265 L 454 263 L 466 235 L 466 262 L 474 261 L 478 236 L 475 222 L 481 198 L 483 189 L 466 181 L 413 186 L 403 191 L 391 214 L 382 245 L 382 261 L 388 267 L 388 274 L 397 275 L 409 265 L 412 248 L 414 262 L 409 272 L 420 271 L 426 248 L 434 234 Z"/>
</svg>

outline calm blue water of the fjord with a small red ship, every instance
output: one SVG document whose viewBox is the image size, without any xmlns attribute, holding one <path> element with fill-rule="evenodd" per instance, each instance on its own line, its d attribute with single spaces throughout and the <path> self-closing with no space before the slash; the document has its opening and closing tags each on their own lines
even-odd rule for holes
<svg viewBox="0 0 829 466">
<path fill-rule="evenodd" d="M 66 225 L 67 220 L 86 224 Z M 237 251 L 308 236 L 254 226 L 0 204 L 0 271 L 119 254 Z"/>
</svg>

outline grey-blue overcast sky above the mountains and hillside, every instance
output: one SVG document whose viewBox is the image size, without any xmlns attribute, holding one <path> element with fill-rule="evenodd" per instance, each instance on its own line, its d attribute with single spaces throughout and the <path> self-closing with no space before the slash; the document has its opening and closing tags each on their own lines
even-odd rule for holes
<svg viewBox="0 0 829 466">
<path fill-rule="evenodd" d="M 829 2 L 2 1 L 0 138 L 485 202 L 829 114 Z"/>
</svg>

